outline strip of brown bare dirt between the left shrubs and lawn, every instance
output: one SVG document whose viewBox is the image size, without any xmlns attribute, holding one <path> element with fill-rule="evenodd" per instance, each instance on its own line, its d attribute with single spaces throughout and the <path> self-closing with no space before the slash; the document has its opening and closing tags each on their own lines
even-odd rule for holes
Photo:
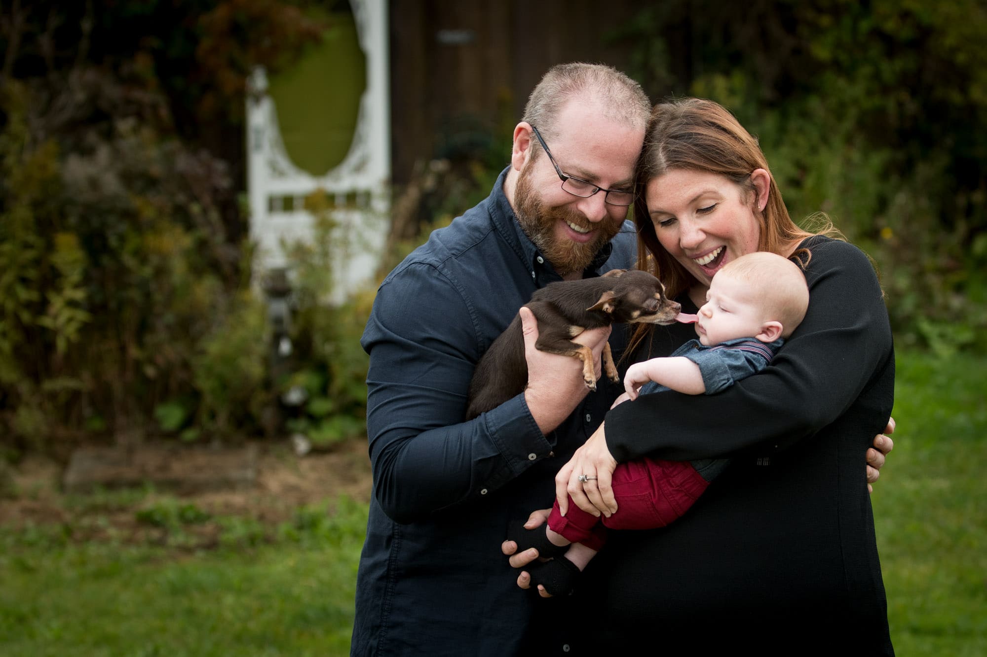
<svg viewBox="0 0 987 657">
<path fill-rule="evenodd" d="M 142 448 L 133 448 L 140 450 Z M 146 454 L 136 455 L 136 463 L 161 458 L 161 446 L 149 445 Z M 162 499 L 178 500 L 207 514 L 243 515 L 264 524 L 273 524 L 291 516 L 300 506 L 335 500 L 346 495 L 366 502 L 370 498 L 370 463 L 366 441 L 347 442 L 331 452 L 296 456 L 286 444 L 251 443 L 223 454 L 235 466 L 249 461 L 254 467 L 253 484 L 242 481 L 223 486 L 187 486 L 181 481 L 202 477 L 203 463 L 221 468 L 222 459 L 213 455 L 203 461 L 200 449 L 167 450 L 168 474 L 179 485 L 152 488 L 100 486 L 95 492 L 66 493 L 63 480 L 68 464 L 52 459 L 29 456 L 13 466 L 10 479 L 12 495 L 0 498 L 0 524 L 24 527 L 29 524 L 71 524 L 78 528 L 78 538 L 92 538 L 92 532 L 112 529 L 132 532 L 135 515 Z M 219 460 L 217 460 L 219 459 Z M 124 477 L 126 483 L 135 483 Z M 130 490 L 133 494 L 128 495 Z M 93 522 L 87 522 L 87 518 Z M 95 522 L 98 519 L 99 522 Z M 139 523 L 136 523 L 139 524 Z M 92 531 L 87 528 L 96 528 Z M 103 530 L 100 530 L 103 528 Z"/>
</svg>

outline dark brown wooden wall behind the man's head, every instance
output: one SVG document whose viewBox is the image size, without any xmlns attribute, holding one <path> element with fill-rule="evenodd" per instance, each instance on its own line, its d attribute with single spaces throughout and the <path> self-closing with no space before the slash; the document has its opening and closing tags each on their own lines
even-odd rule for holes
<svg viewBox="0 0 987 657">
<path fill-rule="evenodd" d="M 408 182 L 416 161 L 467 149 L 483 132 L 506 143 L 554 64 L 626 70 L 630 46 L 603 40 L 640 8 L 632 0 L 391 0 L 394 182 Z"/>
</svg>

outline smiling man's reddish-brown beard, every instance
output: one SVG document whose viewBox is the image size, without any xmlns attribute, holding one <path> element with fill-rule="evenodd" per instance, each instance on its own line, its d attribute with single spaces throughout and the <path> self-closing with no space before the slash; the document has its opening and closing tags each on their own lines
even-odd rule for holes
<svg viewBox="0 0 987 657">
<path fill-rule="evenodd" d="M 530 165 L 529 161 L 528 166 Z M 521 230 L 560 275 L 581 273 L 603 245 L 617 235 L 623 222 L 607 217 L 593 224 L 577 210 L 546 206 L 531 183 L 528 166 L 521 170 L 514 188 L 514 214 Z M 558 240 L 555 231 L 559 221 L 569 221 L 574 226 L 593 229 L 596 237 L 586 243 Z"/>
</svg>

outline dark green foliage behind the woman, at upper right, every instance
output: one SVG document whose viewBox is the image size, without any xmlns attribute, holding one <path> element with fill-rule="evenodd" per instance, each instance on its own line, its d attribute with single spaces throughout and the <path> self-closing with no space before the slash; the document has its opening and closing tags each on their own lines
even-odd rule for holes
<svg viewBox="0 0 987 657">
<path fill-rule="evenodd" d="M 794 217 L 873 256 L 899 340 L 987 346 L 987 6 L 672 0 L 612 39 L 654 99 L 721 102 Z"/>
</svg>

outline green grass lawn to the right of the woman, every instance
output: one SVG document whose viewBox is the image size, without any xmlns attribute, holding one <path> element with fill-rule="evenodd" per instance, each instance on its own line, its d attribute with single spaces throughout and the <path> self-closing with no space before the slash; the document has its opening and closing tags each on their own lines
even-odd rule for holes
<svg viewBox="0 0 987 657">
<path fill-rule="evenodd" d="M 900 655 L 987 655 L 987 358 L 899 354 L 873 509 Z"/>
</svg>

